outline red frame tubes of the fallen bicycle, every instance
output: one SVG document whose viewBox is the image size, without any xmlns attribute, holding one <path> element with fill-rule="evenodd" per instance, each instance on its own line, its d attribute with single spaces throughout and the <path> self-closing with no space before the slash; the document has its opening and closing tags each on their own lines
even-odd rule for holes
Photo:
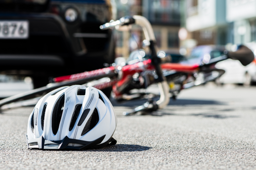
<svg viewBox="0 0 256 170">
<path fill-rule="evenodd" d="M 183 65 L 183 64 L 177 64 L 177 63 L 164 63 L 164 64 L 161 64 L 161 68 L 165 70 L 175 70 L 178 72 L 191 73 L 191 72 L 197 71 L 199 68 L 199 65 L 198 64 Z M 154 69 L 155 67 L 151 64 L 151 59 L 147 59 L 131 65 L 125 65 L 123 67 L 111 66 L 111 67 L 106 67 L 98 70 L 86 71 L 83 73 L 56 77 L 53 80 L 54 82 L 74 81 L 74 80 L 94 77 L 98 75 L 104 75 L 110 72 L 118 72 L 120 75 L 119 79 L 113 79 L 110 82 L 99 83 L 94 85 L 93 87 L 101 90 L 101 89 L 105 89 L 107 87 L 113 86 L 113 92 L 115 93 L 115 96 L 120 96 L 122 94 L 119 92 L 118 88 L 124 86 L 128 81 L 130 81 L 132 78 L 132 75 L 134 75 L 135 73 L 141 73 L 145 70 L 154 70 Z"/>
</svg>

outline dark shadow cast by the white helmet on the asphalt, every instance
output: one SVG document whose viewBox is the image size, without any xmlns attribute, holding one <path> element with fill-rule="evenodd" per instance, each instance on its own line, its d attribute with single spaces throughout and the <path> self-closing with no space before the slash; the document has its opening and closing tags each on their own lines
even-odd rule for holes
<svg viewBox="0 0 256 170">
<path fill-rule="evenodd" d="M 116 144 L 113 146 L 105 146 L 100 149 L 86 149 L 81 151 L 89 152 L 134 152 L 134 151 L 145 151 L 149 150 L 151 147 L 141 146 L 141 145 L 130 145 L 130 144 Z"/>
</svg>

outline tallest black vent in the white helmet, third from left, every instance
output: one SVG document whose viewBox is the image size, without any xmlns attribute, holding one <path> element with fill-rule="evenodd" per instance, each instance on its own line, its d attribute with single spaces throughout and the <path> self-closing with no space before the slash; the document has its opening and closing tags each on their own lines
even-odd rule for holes
<svg viewBox="0 0 256 170">
<path fill-rule="evenodd" d="M 52 132 L 54 135 L 57 134 L 59 126 L 60 126 L 60 120 L 63 113 L 65 103 L 65 94 L 63 94 L 56 102 L 53 111 L 52 111 Z"/>
</svg>

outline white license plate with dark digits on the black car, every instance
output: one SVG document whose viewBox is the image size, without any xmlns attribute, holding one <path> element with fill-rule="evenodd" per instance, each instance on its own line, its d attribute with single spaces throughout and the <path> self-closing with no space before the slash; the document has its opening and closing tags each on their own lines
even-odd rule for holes
<svg viewBox="0 0 256 170">
<path fill-rule="evenodd" d="M 0 39 L 27 39 L 28 35 L 28 21 L 0 20 Z"/>
</svg>

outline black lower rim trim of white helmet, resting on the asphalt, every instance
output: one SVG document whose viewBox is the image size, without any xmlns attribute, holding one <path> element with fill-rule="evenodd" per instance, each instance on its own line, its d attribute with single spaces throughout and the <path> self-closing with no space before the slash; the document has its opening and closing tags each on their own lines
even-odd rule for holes
<svg viewBox="0 0 256 170">
<path fill-rule="evenodd" d="M 89 147 L 93 147 L 95 145 L 100 144 L 106 135 L 101 136 L 100 138 L 94 140 L 94 141 L 84 141 L 84 140 L 78 140 L 78 139 L 70 139 L 68 136 L 64 137 L 63 140 L 45 140 L 43 136 L 40 136 L 39 138 L 28 140 L 28 136 L 26 133 L 26 139 L 27 139 L 27 145 L 28 149 L 30 148 L 38 148 L 38 149 L 49 149 L 49 150 L 59 150 L 59 149 L 78 149 L 83 150 L 87 149 Z M 114 145 L 116 142 L 113 142 L 115 139 L 111 137 L 111 143 L 109 145 Z M 109 140 L 109 142 L 110 142 Z M 112 143 L 113 142 L 113 143 Z M 82 144 L 84 146 L 69 146 L 69 143 L 77 143 Z"/>
</svg>

